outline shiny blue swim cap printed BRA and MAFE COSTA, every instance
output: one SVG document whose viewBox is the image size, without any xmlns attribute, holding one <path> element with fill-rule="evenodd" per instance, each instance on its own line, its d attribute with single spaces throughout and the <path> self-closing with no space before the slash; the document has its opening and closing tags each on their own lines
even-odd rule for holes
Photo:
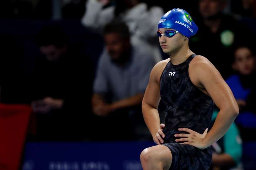
<svg viewBox="0 0 256 170">
<path fill-rule="evenodd" d="M 188 38 L 195 35 L 198 30 L 190 14 L 179 8 L 172 9 L 164 14 L 159 20 L 159 28 L 175 29 Z"/>
</svg>

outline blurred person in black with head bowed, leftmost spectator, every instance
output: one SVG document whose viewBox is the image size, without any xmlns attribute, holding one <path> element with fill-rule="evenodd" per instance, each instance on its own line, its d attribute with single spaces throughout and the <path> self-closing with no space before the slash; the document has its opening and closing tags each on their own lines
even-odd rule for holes
<svg viewBox="0 0 256 170">
<path fill-rule="evenodd" d="M 56 25 L 43 28 L 36 42 L 42 55 L 33 71 L 31 105 L 37 113 L 38 139 L 83 139 L 92 113 L 89 57 L 68 48 L 66 35 Z"/>
</svg>

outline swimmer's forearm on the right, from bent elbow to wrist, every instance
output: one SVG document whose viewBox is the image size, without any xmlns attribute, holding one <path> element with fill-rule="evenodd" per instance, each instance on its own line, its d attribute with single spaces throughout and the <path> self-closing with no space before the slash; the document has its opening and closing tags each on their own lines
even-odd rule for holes
<svg viewBox="0 0 256 170">
<path fill-rule="evenodd" d="M 235 109 L 220 110 L 213 127 L 203 139 L 205 147 L 219 140 L 228 131 L 237 115 L 238 111 Z"/>
</svg>

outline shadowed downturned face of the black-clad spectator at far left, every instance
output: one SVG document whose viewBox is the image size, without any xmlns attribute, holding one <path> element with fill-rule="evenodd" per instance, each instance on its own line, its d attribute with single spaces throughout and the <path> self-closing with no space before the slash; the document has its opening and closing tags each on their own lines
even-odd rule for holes
<svg viewBox="0 0 256 170">
<path fill-rule="evenodd" d="M 48 61 L 57 61 L 65 52 L 65 47 L 56 47 L 55 45 L 40 46 L 41 53 Z"/>
</svg>

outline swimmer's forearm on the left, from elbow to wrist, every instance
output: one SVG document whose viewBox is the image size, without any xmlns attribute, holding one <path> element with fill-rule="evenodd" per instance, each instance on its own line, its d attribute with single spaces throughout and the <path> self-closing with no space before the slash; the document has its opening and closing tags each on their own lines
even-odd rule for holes
<svg viewBox="0 0 256 170">
<path fill-rule="evenodd" d="M 152 137 L 155 136 L 157 130 L 160 129 L 160 118 L 157 108 L 150 106 L 146 102 L 142 102 L 142 113 L 144 121 L 149 128 Z"/>
</svg>

